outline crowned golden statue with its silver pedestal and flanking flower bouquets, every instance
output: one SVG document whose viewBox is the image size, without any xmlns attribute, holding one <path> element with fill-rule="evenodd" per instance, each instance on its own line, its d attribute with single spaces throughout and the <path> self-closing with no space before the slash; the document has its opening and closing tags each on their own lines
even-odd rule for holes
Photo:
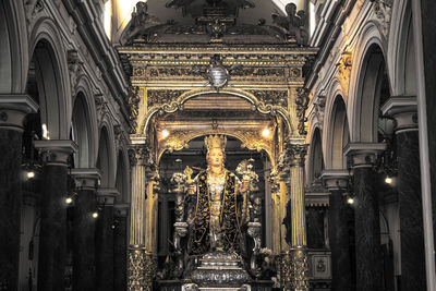
<svg viewBox="0 0 436 291">
<path fill-rule="evenodd" d="M 249 281 L 247 265 L 244 264 L 244 258 L 247 258 L 246 233 L 261 228 L 258 222 L 251 222 L 249 211 L 253 208 L 250 193 L 255 189 L 257 175 L 246 165 L 238 167 L 241 179 L 225 168 L 226 143 L 226 136 L 205 137 L 207 169 L 199 171 L 194 179 L 189 167 L 184 174 L 173 177 L 179 185 L 183 184 L 178 187 L 174 223 L 178 268 L 180 274 L 184 274 L 184 279 L 198 286 L 241 286 Z M 251 237 L 257 240 L 255 235 Z"/>
</svg>

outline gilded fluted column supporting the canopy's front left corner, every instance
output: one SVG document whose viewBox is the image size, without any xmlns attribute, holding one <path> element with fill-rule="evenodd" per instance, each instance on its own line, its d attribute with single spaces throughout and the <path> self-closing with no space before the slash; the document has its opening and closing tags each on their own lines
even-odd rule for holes
<svg viewBox="0 0 436 291">
<path fill-rule="evenodd" d="M 146 163 L 148 155 L 149 153 L 143 143 L 136 144 L 129 149 L 132 167 L 132 202 L 128 266 L 129 291 L 152 290 L 152 284 L 145 276 L 147 257 L 149 257 L 149 253 L 145 248 Z"/>
</svg>

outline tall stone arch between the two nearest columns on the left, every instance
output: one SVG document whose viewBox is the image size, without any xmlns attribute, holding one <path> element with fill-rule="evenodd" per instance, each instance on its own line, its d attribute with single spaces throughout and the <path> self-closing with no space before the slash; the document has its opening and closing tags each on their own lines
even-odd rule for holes
<svg viewBox="0 0 436 291">
<path fill-rule="evenodd" d="M 41 19 L 31 35 L 32 61 L 39 92 L 41 123 L 51 140 L 69 140 L 72 98 L 66 57 L 56 24 Z"/>
</svg>

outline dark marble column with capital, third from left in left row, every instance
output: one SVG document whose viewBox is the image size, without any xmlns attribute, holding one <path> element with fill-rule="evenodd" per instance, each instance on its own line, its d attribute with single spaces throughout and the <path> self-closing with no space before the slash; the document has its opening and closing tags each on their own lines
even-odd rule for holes
<svg viewBox="0 0 436 291">
<path fill-rule="evenodd" d="M 98 169 L 72 169 L 71 174 L 78 184 L 73 217 L 73 289 L 95 290 L 95 218 L 97 209 L 96 190 L 101 179 Z"/>
</svg>

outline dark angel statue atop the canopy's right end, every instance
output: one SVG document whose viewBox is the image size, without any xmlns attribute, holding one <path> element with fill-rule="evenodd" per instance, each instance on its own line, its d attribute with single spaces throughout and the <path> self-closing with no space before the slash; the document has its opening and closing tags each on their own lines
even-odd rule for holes
<svg viewBox="0 0 436 291">
<path fill-rule="evenodd" d="M 303 10 L 296 12 L 296 5 L 289 3 L 286 5 L 287 16 L 281 16 L 279 13 L 272 13 L 272 23 L 275 23 L 284 34 L 287 39 L 295 38 L 296 44 L 307 45 L 308 34 L 305 28 L 306 14 Z"/>
</svg>

